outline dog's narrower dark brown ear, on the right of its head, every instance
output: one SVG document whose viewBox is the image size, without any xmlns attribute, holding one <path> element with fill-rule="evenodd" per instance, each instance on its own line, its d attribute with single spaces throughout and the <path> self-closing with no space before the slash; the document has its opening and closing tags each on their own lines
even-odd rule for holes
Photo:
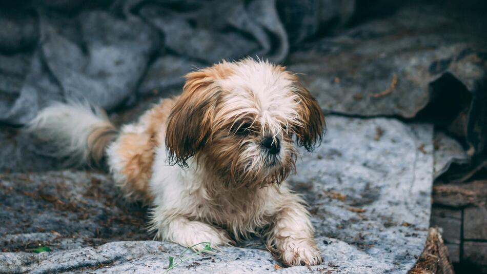
<svg viewBox="0 0 487 274">
<path fill-rule="evenodd" d="M 302 86 L 297 77 L 293 76 L 293 91 L 300 99 L 298 113 L 301 126 L 295 129 L 297 143 L 308 151 L 313 151 L 321 144 L 323 134 L 326 131 L 326 122 L 316 99 Z"/>
</svg>

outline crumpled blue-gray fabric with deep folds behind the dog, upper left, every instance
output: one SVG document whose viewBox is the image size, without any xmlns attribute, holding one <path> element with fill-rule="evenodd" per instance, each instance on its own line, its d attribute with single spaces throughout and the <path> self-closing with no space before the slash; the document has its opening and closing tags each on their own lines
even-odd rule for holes
<svg viewBox="0 0 487 274">
<path fill-rule="evenodd" d="M 224 59 L 282 62 L 290 45 L 323 21 L 345 22 L 354 0 L 2 5 L 0 122 L 23 125 L 52 101 L 87 100 L 107 110 L 131 105 Z"/>
</svg>

